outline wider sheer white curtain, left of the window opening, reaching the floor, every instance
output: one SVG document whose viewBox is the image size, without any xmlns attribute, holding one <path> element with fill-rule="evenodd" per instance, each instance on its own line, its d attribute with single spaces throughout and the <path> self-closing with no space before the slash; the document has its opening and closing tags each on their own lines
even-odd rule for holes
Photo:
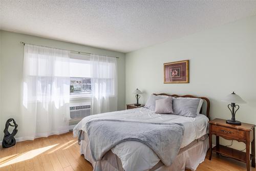
<svg viewBox="0 0 256 171">
<path fill-rule="evenodd" d="M 22 136 L 33 140 L 69 131 L 70 52 L 26 44 Z"/>
</svg>

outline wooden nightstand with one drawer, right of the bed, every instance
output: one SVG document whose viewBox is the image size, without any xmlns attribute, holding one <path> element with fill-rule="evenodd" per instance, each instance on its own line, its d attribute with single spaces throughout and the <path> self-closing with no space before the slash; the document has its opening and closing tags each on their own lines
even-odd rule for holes
<svg viewBox="0 0 256 171">
<path fill-rule="evenodd" d="M 217 154 L 223 154 L 227 157 L 237 159 L 246 163 L 247 170 L 250 170 L 251 166 L 255 167 L 255 125 L 242 123 L 241 125 L 226 123 L 224 119 L 214 119 L 209 121 L 209 145 L 210 145 L 210 155 L 211 159 L 212 151 Z M 212 148 L 211 137 L 216 135 L 216 146 Z M 244 142 L 246 144 L 246 152 L 241 152 L 237 149 L 226 147 L 221 145 L 219 142 L 219 137 L 227 140 L 237 140 L 239 142 Z M 251 154 L 250 154 L 251 145 Z"/>
</svg>

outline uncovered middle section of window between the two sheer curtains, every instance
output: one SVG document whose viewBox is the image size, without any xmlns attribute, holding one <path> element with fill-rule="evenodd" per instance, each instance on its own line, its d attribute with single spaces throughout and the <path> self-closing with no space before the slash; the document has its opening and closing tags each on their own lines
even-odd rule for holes
<svg viewBox="0 0 256 171">
<path fill-rule="evenodd" d="M 72 54 L 70 58 L 70 95 L 90 96 L 91 67 L 87 55 Z"/>
</svg>

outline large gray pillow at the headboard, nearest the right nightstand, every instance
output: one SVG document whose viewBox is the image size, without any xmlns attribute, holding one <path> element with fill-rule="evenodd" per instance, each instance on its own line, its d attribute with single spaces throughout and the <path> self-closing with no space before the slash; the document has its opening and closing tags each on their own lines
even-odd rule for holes
<svg viewBox="0 0 256 171">
<path fill-rule="evenodd" d="M 174 98 L 173 111 L 175 115 L 196 117 L 199 98 Z"/>
</svg>

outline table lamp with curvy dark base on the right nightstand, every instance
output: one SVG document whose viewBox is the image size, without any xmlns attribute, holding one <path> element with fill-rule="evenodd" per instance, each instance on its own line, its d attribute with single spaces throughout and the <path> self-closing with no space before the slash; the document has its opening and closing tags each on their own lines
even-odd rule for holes
<svg viewBox="0 0 256 171">
<path fill-rule="evenodd" d="M 226 120 L 226 123 L 241 124 L 241 122 L 236 120 L 236 117 L 235 117 L 235 115 L 239 109 L 239 105 L 237 105 L 236 103 L 246 103 L 246 102 L 239 95 L 237 95 L 234 92 L 227 95 L 224 99 L 222 99 L 222 101 L 231 103 L 231 104 L 228 104 L 227 107 L 232 114 L 232 118 L 231 118 L 231 120 Z M 231 107 L 231 109 L 230 109 L 230 107 Z M 238 109 L 235 111 L 234 108 L 238 108 Z"/>
</svg>

